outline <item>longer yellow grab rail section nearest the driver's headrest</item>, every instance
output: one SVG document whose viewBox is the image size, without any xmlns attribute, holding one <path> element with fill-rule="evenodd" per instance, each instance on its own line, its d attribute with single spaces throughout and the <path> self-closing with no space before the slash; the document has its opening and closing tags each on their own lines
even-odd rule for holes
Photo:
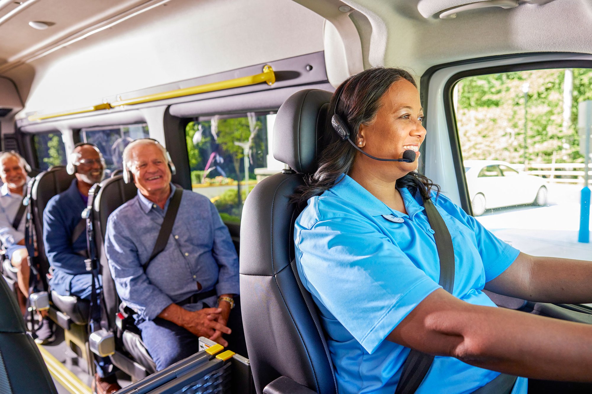
<svg viewBox="0 0 592 394">
<path fill-rule="evenodd" d="M 191 86 L 191 88 L 176 89 L 175 91 L 155 93 L 153 95 L 140 96 L 127 100 L 115 101 L 111 103 L 111 106 L 115 107 L 121 105 L 141 104 L 143 102 L 159 101 L 175 97 L 197 95 L 199 93 L 223 91 L 224 89 L 256 85 L 257 83 L 262 82 L 267 82 L 268 85 L 273 85 L 275 83 L 274 69 L 272 69 L 269 64 L 266 64 L 265 67 L 263 67 L 263 72 L 260 74 L 223 80 L 220 82 L 206 83 L 205 85 Z"/>
</svg>

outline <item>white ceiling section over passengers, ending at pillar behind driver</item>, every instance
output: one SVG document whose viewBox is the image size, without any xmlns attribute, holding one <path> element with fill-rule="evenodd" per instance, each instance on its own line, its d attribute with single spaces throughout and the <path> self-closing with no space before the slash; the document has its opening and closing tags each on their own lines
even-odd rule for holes
<svg viewBox="0 0 592 394">
<path fill-rule="evenodd" d="M 53 11 L 34 13 L 44 3 L 53 4 Z M 38 0 L 12 18 L 10 28 L 0 25 L 0 35 L 52 34 L 59 24 L 36 31 L 28 21 L 52 21 L 52 14 L 82 4 Z M 170 0 L 2 74 L 19 86 L 24 112 L 59 111 L 99 104 L 117 93 L 320 51 L 322 28 L 323 18 L 289 0 Z M 0 52 L 0 58 L 11 55 Z M 0 72 L 10 66 L 0 66 Z"/>
</svg>

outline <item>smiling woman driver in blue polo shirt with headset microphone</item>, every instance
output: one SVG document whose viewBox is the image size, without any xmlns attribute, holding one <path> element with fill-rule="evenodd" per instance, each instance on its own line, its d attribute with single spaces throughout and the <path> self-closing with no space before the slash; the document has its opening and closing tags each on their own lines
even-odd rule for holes
<svg viewBox="0 0 592 394">
<path fill-rule="evenodd" d="M 423 109 L 404 70 L 379 67 L 349 77 L 330 108 L 366 153 L 419 156 Z M 482 292 L 592 302 L 590 261 L 520 253 L 414 172 L 417 161 L 377 161 L 326 133 L 317 172 L 292 196 L 308 202 L 294 237 L 298 272 L 320 309 L 340 393 L 393 393 L 409 348 L 436 356 L 417 393 L 471 393 L 499 372 L 592 381 L 592 326 L 495 308 Z M 438 285 L 428 198 L 452 237 L 452 295 Z M 511 379 L 504 392 L 527 392 L 524 377 Z"/>
</svg>

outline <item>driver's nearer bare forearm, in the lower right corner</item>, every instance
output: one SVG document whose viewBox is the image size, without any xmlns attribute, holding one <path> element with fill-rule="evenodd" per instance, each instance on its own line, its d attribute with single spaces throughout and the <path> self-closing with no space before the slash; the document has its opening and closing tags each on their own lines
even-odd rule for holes
<svg viewBox="0 0 592 394">
<path fill-rule="evenodd" d="M 483 308 L 469 318 L 459 359 L 517 376 L 592 382 L 592 325 Z"/>
</svg>

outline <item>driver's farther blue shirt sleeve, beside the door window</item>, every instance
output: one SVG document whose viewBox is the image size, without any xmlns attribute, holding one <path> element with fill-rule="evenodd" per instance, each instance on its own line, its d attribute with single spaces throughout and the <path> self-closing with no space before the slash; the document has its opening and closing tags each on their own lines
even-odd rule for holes
<svg viewBox="0 0 592 394">
<path fill-rule="evenodd" d="M 467 215 L 462 208 L 443 195 L 438 196 L 436 201 L 437 206 L 458 218 L 459 221 L 473 231 L 477 250 L 483 261 L 485 282 L 495 279 L 516 260 L 520 251 L 500 240 L 491 231 L 483 227 L 477 219 Z"/>
</svg>

